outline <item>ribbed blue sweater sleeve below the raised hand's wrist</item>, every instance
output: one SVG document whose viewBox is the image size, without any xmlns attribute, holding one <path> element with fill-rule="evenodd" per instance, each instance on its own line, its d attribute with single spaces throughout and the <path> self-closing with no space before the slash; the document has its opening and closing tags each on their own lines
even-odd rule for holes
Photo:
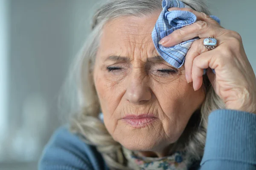
<svg viewBox="0 0 256 170">
<path fill-rule="evenodd" d="M 256 170 L 256 114 L 213 111 L 200 165 L 200 170 Z"/>
</svg>

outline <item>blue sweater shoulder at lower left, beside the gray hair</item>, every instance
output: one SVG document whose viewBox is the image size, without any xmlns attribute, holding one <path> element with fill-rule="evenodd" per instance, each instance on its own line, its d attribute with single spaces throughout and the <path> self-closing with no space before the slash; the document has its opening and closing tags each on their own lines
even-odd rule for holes
<svg viewBox="0 0 256 170">
<path fill-rule="evenodd" d="M 60 127 L 44 148 L 38 170 L 101 170 L 103 166 L 94 147 L 70 133 L 67 127 Z"/>
</svg>

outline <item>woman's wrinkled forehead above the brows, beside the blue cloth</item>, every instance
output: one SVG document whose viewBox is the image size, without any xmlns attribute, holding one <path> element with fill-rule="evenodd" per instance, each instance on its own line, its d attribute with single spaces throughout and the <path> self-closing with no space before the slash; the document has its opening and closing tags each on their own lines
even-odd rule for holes
<svg viewBox="0 0 256 170">
<path fill-rule="evenodd" d="M 99 53 L 107 55 L 157 55 L 151 33 L 160 12 L 142 17 L 124 16 L 105 24 Z M 130 56 L 131 57 L 131 56 Z"/>
</svg>

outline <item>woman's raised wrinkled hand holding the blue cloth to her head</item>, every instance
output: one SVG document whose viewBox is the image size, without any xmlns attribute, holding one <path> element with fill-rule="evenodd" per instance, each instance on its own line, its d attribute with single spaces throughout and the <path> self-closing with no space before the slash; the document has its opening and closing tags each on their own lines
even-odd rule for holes
<svg viewBox="0 0 256 170">
<path fill-rule="evenodd" d="M 196 15 L 198 21 L 177 29 L 160 40 L 161 45 L 170 47 L 194 37 L 185 60 L 186 80 L 193 82 L 195 90 L 203 82 L 204 69 L 208 78 L 227 109 L 236 109 L 256 113 L 256 78 L 247 59 L 241 36 L 234 31 L 221 27 L 215 20 L 202 12 L 189 8 L 171 8 L 189 11 Z M 215 49 L 204 47 L 204 38 L 214 37 L 218 40 Z M 211 69 L 215 69 L 215 74 Z"/>
</svg>

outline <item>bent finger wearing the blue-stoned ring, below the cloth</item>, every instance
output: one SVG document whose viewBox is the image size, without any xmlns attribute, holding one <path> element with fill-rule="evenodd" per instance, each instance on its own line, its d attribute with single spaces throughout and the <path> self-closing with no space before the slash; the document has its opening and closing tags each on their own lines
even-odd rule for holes
<svg viewBox="0 0 256 170">
<path fill-rule="evenodd" d="M 185 63 L 184 63 L 186 81 L 188 83 L 192 82 L 191 73 L 192 73 L 192 65 L 193 65 L 194 59 L 198 55 L 202 54 L 203 52 L 207 52 L 207 51 L 208 51 L 208 49 L 204 47 L 204 39 L 195 40 L 192 43 L 189 51 L 186 54 Z"/>
</svg>

